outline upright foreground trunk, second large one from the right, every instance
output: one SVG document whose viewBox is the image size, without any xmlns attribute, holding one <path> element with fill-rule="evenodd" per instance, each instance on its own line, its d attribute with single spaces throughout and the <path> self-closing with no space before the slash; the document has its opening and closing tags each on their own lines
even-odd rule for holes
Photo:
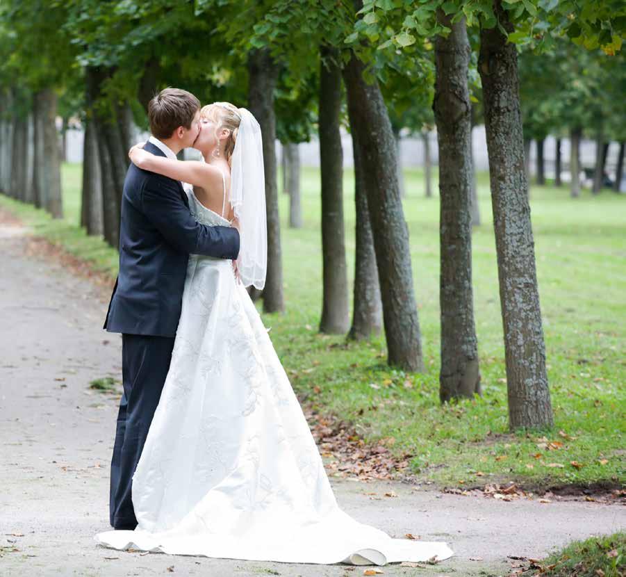
<svg viewBox="0 0 626 577">
<path fill-rule="evenodd" d="M 435 40 L 433 101 L 439 145 L 439 398 L 445 403 L 480 394 L 480 371 L 472 293 L 470 42 L 465 19 L 452 24 L 439 10 L 438 20 L 451 30 Z"/>
</svg>

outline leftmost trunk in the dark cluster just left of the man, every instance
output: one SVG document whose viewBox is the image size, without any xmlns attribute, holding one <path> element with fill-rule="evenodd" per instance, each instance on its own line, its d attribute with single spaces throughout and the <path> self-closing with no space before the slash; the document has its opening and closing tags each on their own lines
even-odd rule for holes
<svg viewBox="0 0 626 577">
<path fill-rule="evenodd" d="M 104 215 L 102 199 L 102 176 L 100 170 L 99 145 L 96 127 L 88 115 L 85 120 L 85 139 L 83 141 L 83 204 L 81 207 L 81 225 L 87 234 L 104 234 Z"/>
</svg>

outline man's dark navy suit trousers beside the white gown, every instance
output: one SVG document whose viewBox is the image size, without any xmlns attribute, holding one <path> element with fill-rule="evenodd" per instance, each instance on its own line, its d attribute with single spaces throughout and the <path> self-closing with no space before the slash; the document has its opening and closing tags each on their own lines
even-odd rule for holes
<svg viewBox="0 0 626 577">
<path fill-rule="evenodd" d="M 122 334 L 124 393 L 117 414 L 109 500 L 110 523 L 115 529 L 137 526 L 133 474 L 170 369 L 173 348 L 173 336 Z"/>
</svg>

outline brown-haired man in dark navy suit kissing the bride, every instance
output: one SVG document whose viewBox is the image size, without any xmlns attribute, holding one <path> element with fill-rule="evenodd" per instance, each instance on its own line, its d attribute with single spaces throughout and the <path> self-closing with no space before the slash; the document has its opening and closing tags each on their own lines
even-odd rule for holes
<svg viewBox="0 0 626 577">
<path fill-rule="evenodd" d="M 145 150 L 175 159 L 201 130 L 198 99 L 165 88 L 148 105 L 152 136 Z M 239 232 L 200 225 L 179 181 L 129 166 L 122 194 L 120 273 L 104 328 L 122 333 L 124 393 L 111 460 L 110 523 L 134 529 L 131 500 L 135 467 L 170 368 L 181 315 L 189 254 L 236 259 Z"/>
</svg>

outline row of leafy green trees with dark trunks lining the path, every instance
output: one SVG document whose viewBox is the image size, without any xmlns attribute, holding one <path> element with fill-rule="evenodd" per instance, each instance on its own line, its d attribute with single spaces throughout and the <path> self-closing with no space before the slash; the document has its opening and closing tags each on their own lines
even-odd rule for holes
<svg viewBox="0 0 626 577">
<path fill-rule="evenodd" d="M 57 106 L 62 114 L 80 115 L 85 127 L 82 224 L 90 234 L 103 234 L 117 245 L 126 150 L 133 121 L 145 124 L 149 98 L 169 85 L 187 88 L 202 101 L 247 104 L 263 131 L 268 234 L 263 309 L 277 312 L 284 309 L 284 297 L 274 143 L 277 136 L 286 144 L 308 140 L 317 129 L 324 255 L 320 331 L 363 339 L 384 327 L 388 362 L 422 371 L 397 143 L 401 129 L 420 131 L 434 123 L 441 200 L 440 398 L 447 401 L 480 393 L 472 304 L 471 225 L 477 204 L 470 133 L 472 119 L 481 115 L 490 163 L 510 424 L 550 425 L 518 47 L 545 53 L 555 39 L 568 35 L 588 49 L 612 53 L 619 48 L 625 22 L 624 7 L 613 4 L 8 0 L 0 13 L 0 51 L 6 63 L 0 67 L 0 86 L 5 95 L 2 131 L 12 138 L 0 145 L 0 181 L 8 193 L 40 202 L 58 216 L 60 204 L 53 208 L 60 202 L 58 154 L 47 138 L 53 134 Z M 352 132 L 356 181 L 352 318 L 343 220 L 343 122 Z M 24 129 L 29 124 L 32 138 Z M 36 149 L 39 142 L 43 150 Z M 55 185 L 35 193 L 42 174 Z"/>
</svg>

